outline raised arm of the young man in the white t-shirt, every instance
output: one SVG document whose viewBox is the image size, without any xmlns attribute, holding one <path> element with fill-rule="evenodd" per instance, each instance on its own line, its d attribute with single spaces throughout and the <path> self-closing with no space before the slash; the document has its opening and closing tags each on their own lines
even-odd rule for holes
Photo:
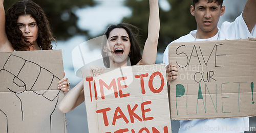
<svg viewBox="0 0 256 133">
<path fill-rule="evenodd" d="M 256 0 L 247 0 L 244 11 L 243 11 L 243 19 L 251 32 L 253 27 L 256 24 Z"/>
</svg>

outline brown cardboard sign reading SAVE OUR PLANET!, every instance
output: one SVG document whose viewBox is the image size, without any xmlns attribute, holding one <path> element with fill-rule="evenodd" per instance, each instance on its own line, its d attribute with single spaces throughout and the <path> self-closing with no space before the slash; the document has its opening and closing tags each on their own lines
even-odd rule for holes
<svg viewBox="0 0 256 133">
<path fill-rule="evenodd" d="M 170 85 L 172 119 L 256 116 L 256 39 L 169 45 L 179 68 Z"/>
</svg>

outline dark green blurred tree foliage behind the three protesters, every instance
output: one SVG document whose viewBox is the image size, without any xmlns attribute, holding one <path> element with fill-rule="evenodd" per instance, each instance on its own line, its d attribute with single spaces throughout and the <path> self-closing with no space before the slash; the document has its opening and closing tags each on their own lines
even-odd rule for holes
<svg viewBox="0 0 256 133">
<path fill-rule="evenodd" d="M 17 1 L 5 0 L 4 7 L 7 10 Z M 57 40 L 67 40 L 76 35 L 87 36 L 88 39 L 97 36 L 90 36 L 88 31 L 78 28 L 78 17 L 74 13 L 77 9 L 94 7 L 97 2 L 93 0 L 33 0 L 45 11 Z M 169 9 L 160 9 L 160 36 L 158 51 L 164 51 L 167 44 L 171 41 L 186 35 L 191 30 L 196 29 L 194 16 L 190 15 L 191 1 L 187 0 L 167 0 Z M 168 4 L 167 3 L 167 4 Z M 147 38 L 147 26 L 149 16 L 148 0 L 126 0 L 124 6 L 132 10 L 132 15 L 123 18 L 122 22 L 131 23 L 140 29 L 139 42 L 141 48 Z M 102 12 L 104 12 L 102 10 Z M 103 33 L 102 33 L 103 34 Z M 101 36 L 102 34 L 98 35 Z"/>
</svg>

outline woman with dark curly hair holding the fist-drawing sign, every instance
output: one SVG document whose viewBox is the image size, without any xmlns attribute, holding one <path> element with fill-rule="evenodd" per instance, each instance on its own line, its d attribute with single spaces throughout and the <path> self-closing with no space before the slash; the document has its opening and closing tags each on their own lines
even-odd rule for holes
<svg viewBox="0 0 256 133">
<path fill-rule="evenodd" d="M 32 1 L 19 1 L 6 12 L 0 0 L 0 51 L 52 49 L 49 21 L 40 6 Z M 67 78 L 62 78 L 62 91 L 69 91 Z"/>
</svg>

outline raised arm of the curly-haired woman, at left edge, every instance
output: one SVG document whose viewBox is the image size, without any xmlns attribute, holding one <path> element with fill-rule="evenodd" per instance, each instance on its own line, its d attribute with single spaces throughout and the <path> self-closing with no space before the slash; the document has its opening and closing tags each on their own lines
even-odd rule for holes
<svg viewBox="0 0 256 133">
<path fill-rule="evenodd" d="M 13 51 L 13 47 L 5 32 L 4 0 L 0 0 L 0 52 L 2 51 Z"/>
</svg>

